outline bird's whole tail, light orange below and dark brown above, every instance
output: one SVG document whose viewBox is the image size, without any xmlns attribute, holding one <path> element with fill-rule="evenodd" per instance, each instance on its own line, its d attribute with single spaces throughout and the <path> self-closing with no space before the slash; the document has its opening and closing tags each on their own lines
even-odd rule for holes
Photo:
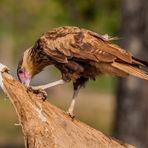
<svg viewBox="0 0 148 148">
<path fill-rule="evenodd" d="M 148 80 L 148 72 L 146 70 L 146 68 L 148 68 L 148 63 L 145 61 L 133 57 L 132 64 L 113 62 L 111 65 L 129 75 Z"/>
</svg>

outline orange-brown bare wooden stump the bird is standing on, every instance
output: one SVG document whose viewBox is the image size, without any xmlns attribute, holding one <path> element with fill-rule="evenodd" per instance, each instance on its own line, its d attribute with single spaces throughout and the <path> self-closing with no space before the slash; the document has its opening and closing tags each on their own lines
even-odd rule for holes
<svg viewBox="0 0 148 148">
<path fill-rule="evenodd" d="M 17 112 L 26 148 L 133 148 L 72 120 L 40 95 L 28 92 L 1 64 L 0 85 Z"/>
</svg>

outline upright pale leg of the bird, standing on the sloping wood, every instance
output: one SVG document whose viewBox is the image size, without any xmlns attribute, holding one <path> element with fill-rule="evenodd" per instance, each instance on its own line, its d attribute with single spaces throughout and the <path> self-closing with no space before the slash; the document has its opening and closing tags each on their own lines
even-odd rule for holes
<svg viewBox="0 0 148 148">
<path fill-rule="evenodd" d="M 75 103 L 76 103 L 76 97 L 78 96 L 78 93 L 79 93 L 79 88 L 74 89 L 74 92 L 73 92 L 73 95 L 72 95 L 72 101 L 71 101 L 71 104 L 70 104 L 68 111 L 67 111 L 68 115 L 71 118 L 74 118 L 73 111 L 74 111 L 74 107 L 75 107 Z"/>
</svg>

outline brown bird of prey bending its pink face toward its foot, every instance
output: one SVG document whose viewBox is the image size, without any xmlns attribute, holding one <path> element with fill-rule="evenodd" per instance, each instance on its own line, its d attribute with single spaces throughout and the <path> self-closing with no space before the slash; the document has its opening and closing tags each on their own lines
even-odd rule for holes
<svg viewBox="0 0 148 148">
<path fill-rule="evenodd" d="M 78 92 L 88 80 L 95 80 L 103 74 L 119 77 L 133 75 L 148 80 L 148 62 L 134 57 L 111 40 L 108 35 L 75 26 L 51 29 L 25 50 L 18 64 L 18 78 L 29 87 L 36 74 L 44 67 L 54 65 L 61 72 L 61 79 L 36 86 L 36 89 L 72 82 L 73 95 L 67 113 L 73 117 Z"/>
</svg>

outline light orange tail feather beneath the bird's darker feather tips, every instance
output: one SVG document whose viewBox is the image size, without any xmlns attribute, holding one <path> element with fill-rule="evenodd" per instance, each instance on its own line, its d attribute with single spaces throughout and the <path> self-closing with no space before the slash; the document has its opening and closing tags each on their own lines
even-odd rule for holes
<svg viewBox="0 0 148 148">
<path fill-rule="evenodd" d="M 148 72 L 144 71 L 140 67 L 136 67 L 131 64 L 118 63 L 118 62 L 113 62 L 111 65 L 121 71 L 126 72 L 127 74 L 139 77 L 141 79 L 148 80 Z"/>
</svg>

